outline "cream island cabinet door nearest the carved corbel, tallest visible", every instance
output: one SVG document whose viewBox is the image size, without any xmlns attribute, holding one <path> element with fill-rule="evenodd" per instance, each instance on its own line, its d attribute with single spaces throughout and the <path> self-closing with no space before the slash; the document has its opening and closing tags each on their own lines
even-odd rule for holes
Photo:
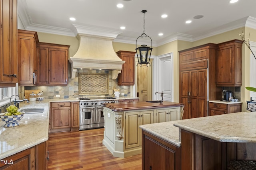
<svg viewBox="0 0 256 170">
<path fill-rule="evenodd" d="M 140 112 L 125 113 L 125 148 L 140 146 Z"/>
</svg>

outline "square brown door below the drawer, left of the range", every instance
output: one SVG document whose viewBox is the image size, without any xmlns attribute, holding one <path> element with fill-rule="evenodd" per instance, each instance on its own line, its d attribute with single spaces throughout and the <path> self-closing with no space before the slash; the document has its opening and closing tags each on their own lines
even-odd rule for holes
<svg viewBox="0 0 256 170">
<path fill-rule="evenodd" d="M 71 127 L 71 113 L 70 107 L 53 107 L 52 117 L 53 117 L 53 128 L 66 128 Z"/>
</svg>

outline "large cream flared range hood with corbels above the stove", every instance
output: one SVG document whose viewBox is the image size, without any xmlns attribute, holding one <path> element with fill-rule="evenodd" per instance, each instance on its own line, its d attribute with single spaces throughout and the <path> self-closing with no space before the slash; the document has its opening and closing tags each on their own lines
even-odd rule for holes
<svg viewBox="0 0 256 170">
<path fill-rule="evenodd" d="M 116 79 L 121 73 L 122 64 L 125 63 L 113 49 L 112 41 L 117 34 L 106 37 L 91 35 L 84 31 L 79 33 L 79 27 L 76 29 L 78 30 L 77 39 L 80 43 L 76 54 L 68 59 L 71 64 L 71 78 L 75 78 L 77 69 L 102 69 L 112 70 L 112 79 Z"/>
</svg>

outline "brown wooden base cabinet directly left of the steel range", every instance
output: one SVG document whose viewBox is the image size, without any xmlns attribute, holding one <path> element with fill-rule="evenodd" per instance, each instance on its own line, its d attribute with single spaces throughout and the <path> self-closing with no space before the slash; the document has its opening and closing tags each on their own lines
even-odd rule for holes
<svg viewBox="0 0 256 170">
<path fill-rule="evenodd" d="M 79 130 L 79 102 L 50 103 L 50 133 Z"/>
</svg>

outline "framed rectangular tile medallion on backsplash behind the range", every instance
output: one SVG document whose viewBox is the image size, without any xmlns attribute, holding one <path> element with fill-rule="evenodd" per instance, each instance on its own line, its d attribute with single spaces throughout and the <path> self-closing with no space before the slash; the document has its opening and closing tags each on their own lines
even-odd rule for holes
<svg viewBox="0 0 256 170">
<path fill-rule="evenodd" d="M 79 73 L 79 95 L 108 94 L 108 74 Z"/>
</svg>

